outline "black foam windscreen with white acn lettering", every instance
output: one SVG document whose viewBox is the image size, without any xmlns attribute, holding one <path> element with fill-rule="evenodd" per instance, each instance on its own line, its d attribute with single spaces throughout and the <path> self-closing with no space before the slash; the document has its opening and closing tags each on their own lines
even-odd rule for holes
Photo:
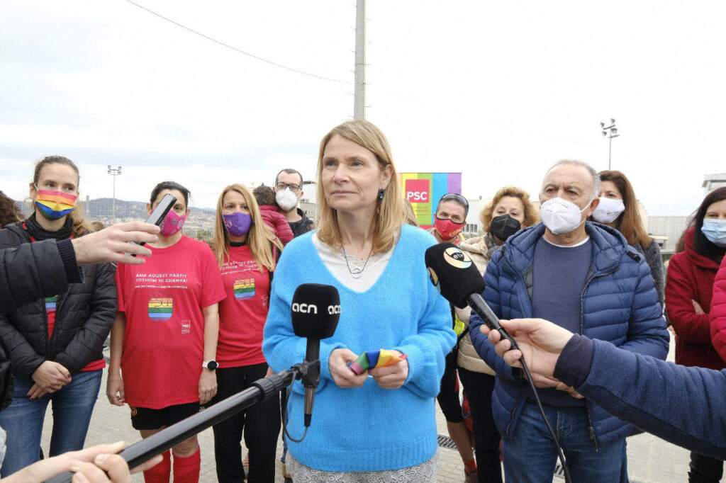
<svg viewBox="0 0 726 483">
<path fill-rule="evenodd" d="M 302 284 L 293 294 L 293 331 L 298 337 L 333 337 L 340 318 L 340 296 L 332 285 Z"/>
</svg>

